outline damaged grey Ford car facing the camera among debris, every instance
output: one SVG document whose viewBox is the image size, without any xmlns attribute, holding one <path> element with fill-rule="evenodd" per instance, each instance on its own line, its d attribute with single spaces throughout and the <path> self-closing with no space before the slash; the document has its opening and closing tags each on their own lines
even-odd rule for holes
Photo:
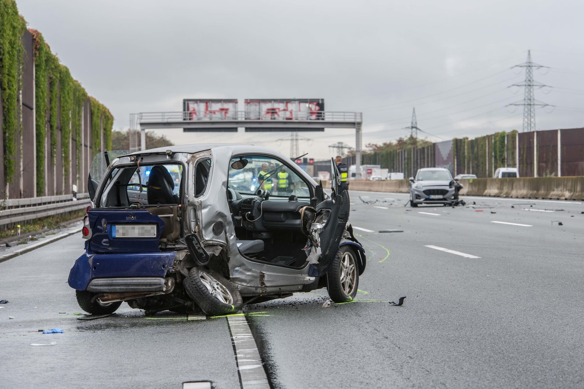
<svg viewBox="0 0 584 389">
<path fill-rule="evenodd" d="M 432 179 L 434 178 L 434 179 Z M 448 169 L 425 167 L 410 180 L 409 192 L 413 204 L 452 204 L 456 190 Z"/>
</svg>

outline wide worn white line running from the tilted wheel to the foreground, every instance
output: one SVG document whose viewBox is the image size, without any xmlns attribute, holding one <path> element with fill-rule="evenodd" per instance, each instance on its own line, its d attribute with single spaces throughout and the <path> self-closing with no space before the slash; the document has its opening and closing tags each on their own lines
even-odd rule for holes
<svg viewBox="0 0 584 389">
<path fill-rule="evenodd" d="M 258 345 L 243 314 L 227 316 L 241 389 L 270 389 Z"/>
</svg>

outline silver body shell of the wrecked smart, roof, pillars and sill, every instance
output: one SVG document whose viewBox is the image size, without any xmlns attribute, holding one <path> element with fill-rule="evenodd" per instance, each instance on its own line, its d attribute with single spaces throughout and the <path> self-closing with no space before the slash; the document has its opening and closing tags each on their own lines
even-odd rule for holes
<svg viewBox="0 0 584 389">
<path fill-rule="evenodd" d="M 168 152 L 167 149 L 169 149 Z M 182 163 L 186 168 L 184 181 L 187 208 L 186 212 L 183 213 L 183 215 L 186 214 L 186 217 L 183 217 L 181 221 L 183 230 L 197 233 L 207 251 L 227 253 L 230 279 L 237 285 L 242 296 L 258 296 L 266 293 L 282 295 L 299 292 L 303 289 L 316 289 L 318 277 L 309 275 L 310 265 L 308 264 L 303 269 L 286 268 L 249 260 L 239 252 L 226 191 L 230 161 L 232 157 L 238 155 L 263 155 L 277 158 L 288 169 L 301 176 L 306 183 L 312 185 L 313 189 L 317 185 L 312 177 L 308 176 L 297 164 L 291 162 L 287 156 L 272 149 L 253 145 L 215 143 L 151 149 L 116 158 L 110 164 L 108 171 L 114 171 L 116 166 L 135 164 L 132 162 L 132 158 L 135 161 L 137 156 L 143 158 L 141 164 L 144 166 L 159 163 L 161 159 Z M 206 187 L 199 197 L 194 197 L 196 163 L 208 158 L 211 159 L 211 167 Z M 107 188 L 102 188 L 103 185 L 108 185 L 105 181 L 107 180 L 100 180 L 96 193 L 105 193 L 103 190 L 107 190 Z M 112 185 L 113 181 L 114 179 L 110 180 L 109 185 Z M 217 236 L 213 232 L 213 226 L 218 221 L 223 222 L 225 228 Z"/>
</svg>

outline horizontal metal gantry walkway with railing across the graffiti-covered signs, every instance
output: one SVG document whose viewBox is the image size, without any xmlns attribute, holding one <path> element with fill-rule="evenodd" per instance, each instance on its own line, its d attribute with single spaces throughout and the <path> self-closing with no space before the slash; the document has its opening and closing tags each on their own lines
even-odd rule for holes
<svg viewBox="0 0 584 389">
<path fill-rule="evenodd" d="M 337 121 L 337 122 L 362 122 L 363 114 L 360 112 L 303 112 L 273 111 L 260 114 L 249 111 L 217 111 L 199 117 L 190 112 L 142 112 L 136 114 L 138 123 L 148 122 L 190 122 L 190 121 Z"/>
</svg>

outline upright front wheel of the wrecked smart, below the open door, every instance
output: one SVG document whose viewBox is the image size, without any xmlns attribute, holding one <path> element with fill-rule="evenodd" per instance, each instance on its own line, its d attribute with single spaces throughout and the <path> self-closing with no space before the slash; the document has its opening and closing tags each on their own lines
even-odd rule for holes
<svg viewBox="0 0 584 389">
<path fill-rule="evenodd" d="M 331 268 L 326 272 L 326 290 L 335 303 L 353 301 L 357 295 L 359 269 L 356 258 L 357 254 L 349 246 L 339 247 Z"/>
</svg>

